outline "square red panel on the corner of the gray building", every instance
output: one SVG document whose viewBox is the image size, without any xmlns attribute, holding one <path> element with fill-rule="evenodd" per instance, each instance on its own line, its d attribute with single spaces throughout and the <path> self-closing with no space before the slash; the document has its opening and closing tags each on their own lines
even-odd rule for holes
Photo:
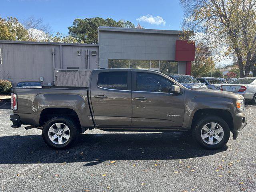
<svg viewBox="0 0 256 192">
<path fill-rule="evenodd" d="M 195 60 L 195 42 L 176 40 L 176 61 L 194 61 Z"/>
</svg>

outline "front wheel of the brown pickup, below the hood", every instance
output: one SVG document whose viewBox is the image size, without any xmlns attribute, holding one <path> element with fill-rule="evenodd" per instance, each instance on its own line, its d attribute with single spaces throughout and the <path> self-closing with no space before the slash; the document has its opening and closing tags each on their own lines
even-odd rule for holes
<svg viewBox="0 0 256 192">
<path fill-rule="evenodd" d="M 228 124 L 218 116 L 208 116 L 198 120 L 195 124 L 193 133 L 194 138 L 200 146 L 209 150 L 216 150 L 224 147 L 230 137 Z"/>
</svg>

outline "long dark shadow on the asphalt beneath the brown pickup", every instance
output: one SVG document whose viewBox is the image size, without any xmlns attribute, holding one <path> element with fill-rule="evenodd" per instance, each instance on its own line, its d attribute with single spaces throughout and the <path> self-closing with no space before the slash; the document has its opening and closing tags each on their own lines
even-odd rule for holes
<svg viewBox="0 0 256 192">
<path fill-rule="evenodd" d="M 84 162 L 93 166 L 111 160 L 172 160 L 209 156 L 227 150 L 205 150 L 188 133 L 82 134 L 66 150 L 46 146 L 42 135 L 0 137 L 0 164 Z"/>
</svg>

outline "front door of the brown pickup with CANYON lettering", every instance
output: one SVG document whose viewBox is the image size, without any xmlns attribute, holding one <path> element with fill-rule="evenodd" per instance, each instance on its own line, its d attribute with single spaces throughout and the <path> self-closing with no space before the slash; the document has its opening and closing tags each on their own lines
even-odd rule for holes
<svg viewBox="0 0 256 192">
<path fill-rule="evenodd" d="M 132 126 L 182 126 L 185 95 L 170 93 L 173 84 L 162 74 L 132 72 Z"/>
</svg>

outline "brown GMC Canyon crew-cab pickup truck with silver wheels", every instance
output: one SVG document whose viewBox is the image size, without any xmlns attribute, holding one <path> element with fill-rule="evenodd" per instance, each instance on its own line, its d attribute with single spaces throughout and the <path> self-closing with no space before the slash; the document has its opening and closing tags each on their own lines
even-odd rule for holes
<svg viewBox="0 0 256 192">
<path fill-rule="evenodd" d="M 42 129 L 46 144 L 70 146 L 87 129 L 189 131 L 207 149 L 224 146 L 246 126 L 244 98 L 218 90 L 191 90 L 156 71 L 93 70 L 89 88 L 14 88 L 12 127 Z"/>
</svg>

